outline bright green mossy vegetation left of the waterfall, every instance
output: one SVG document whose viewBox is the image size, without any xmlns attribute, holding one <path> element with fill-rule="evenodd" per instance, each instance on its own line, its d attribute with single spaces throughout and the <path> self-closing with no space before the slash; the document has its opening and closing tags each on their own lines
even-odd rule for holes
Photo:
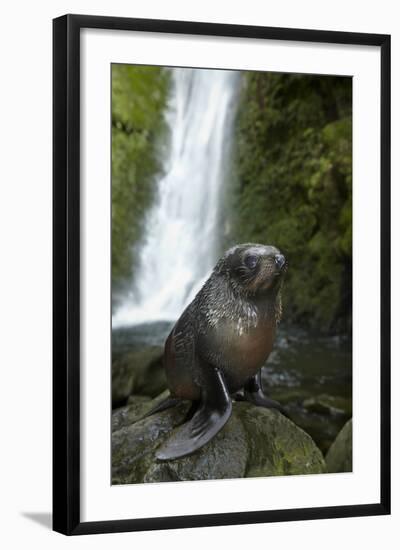
<svg viewBox="0 0 400 550">
<path fill-rule="evenodd" d="M 113 296 L 131 276 L 133 245 L 161 170 L 169 76 L 159 67 L 112 66 Z M 164 140 L 165 141 L 165 140 Z"/>
</svg>

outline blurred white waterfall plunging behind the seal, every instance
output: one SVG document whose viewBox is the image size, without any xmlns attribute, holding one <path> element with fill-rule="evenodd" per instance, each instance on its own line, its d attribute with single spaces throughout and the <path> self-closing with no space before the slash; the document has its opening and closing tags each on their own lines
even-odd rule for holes
<svg viewBox="0 0 400 550">
<path fill-rule="evenodd" d="M 237 72 L 171 69 L 171 142 L 146 217 L 132 293 L 113 327 L 175 320 L 214 267 Z"/>
</svg>

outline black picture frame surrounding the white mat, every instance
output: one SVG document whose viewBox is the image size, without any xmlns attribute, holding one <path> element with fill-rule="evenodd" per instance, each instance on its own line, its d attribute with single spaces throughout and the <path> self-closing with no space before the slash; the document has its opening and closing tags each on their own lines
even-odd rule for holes
<svg viewBox="0 0 400 550">
<path fill-rule="evenodd" d="M 372 504 L 80 520 L 80 31 L 115 29 L 378 46 L 381 51 L 381 495 Z M 390 36 L 65 15 L 53 21 L 53 529 L 66 535 L 390 513 Z"/>
</svg>

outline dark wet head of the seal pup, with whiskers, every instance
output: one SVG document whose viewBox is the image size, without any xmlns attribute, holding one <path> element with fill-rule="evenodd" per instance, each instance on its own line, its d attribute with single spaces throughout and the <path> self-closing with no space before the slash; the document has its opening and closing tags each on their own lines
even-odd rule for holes
<svg viewBox="0 0 400 550">
<path fill-rule="evenodd" d="M 247 243 L 227 250 L 215 270 L 228 275 L 235 289 L 258 295 L 279 290 L 286 268 L 285 256 L 275 246 Z"/>
</svg>

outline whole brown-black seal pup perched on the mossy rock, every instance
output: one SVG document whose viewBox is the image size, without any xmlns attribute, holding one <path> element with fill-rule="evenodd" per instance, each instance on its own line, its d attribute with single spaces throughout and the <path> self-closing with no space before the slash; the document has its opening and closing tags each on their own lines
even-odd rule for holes
<svg viewBox="0 0 400 550">
<path fill-rule="evenodd" d="M 182 399 L 197 409 L 159 447 L 159 460 L 190 455 L 208 443 L 228 421 L 236 392 L 241 400 L 282 410 L 263 393 L 260 369 L 281 316 L 286 267 L 274 246 L 234 246 L 182 313 L 165 343 L 170 397 L 149 415 Z"/>
</svg>

